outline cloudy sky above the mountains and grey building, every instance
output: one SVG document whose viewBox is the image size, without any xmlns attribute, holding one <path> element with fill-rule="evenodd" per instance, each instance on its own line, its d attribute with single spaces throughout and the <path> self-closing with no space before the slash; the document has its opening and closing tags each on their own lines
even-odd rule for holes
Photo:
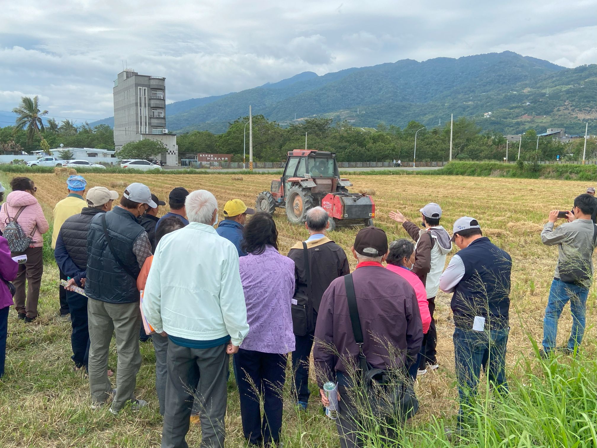
<svg viewBox="0 0 597 448">
<path fill-rule="evenodd" d="M 8 0 L 0 111 L 37 94 L 53 116 L 112 116 L 123 60 L 165 76 L 169 103 L 407 58 L 510 50 L 576 67 L 597 63 L 595 11 L 597 0 Z"/>
</svg>

